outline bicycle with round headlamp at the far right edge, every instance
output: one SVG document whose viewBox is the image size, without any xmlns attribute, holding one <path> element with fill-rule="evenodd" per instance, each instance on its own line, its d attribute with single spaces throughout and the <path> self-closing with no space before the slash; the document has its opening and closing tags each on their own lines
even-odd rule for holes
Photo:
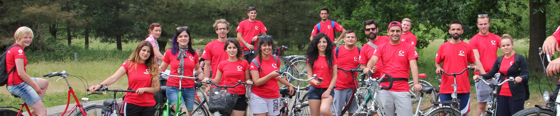
<svg viewBox="0 0 560 116">
<path fill-rule="evenodd" d="M 545 60 L 543 55 L 545 55 L 546 59 L 548 62 L 551 62 L 552 60 L 550 60 L 550 55 L 548 54 L 543 54 L 543 49 L 539 47 L 539 57 L 540 57 L 540 61 L 543 64 L 543 70 L 544 73 L 542 75 L 540 75 L 539 78 L 539 90 L 540 88 L 540 82 L 541 79 L 543 79 L 543 76 L 545 74 L 547 74 L 547 67 L 545 65 Z M 548 64 L 548 62 L 546 62 Z M 550 81 L 548 81 L 550 82 Z M 556 86 L 557 88 L 558 85 Z M 550 89 L 552 89 L 552 87 L 550 87 Z M 554 89 L 552 89 L 554 90 Z M 557 94 L 556 97 L 553 97 L 554 94 L 551 94 L 548 92 L 548 90 L 544 90 L 544 92 L 542 90 L 540 90 L 541 94 L 543 95 L 543 101 L 544 103 L 546 103 L 545 105 L 535 105 L 535 107 L 533 108 L 527 108 L 527 109 L 523 109 L 520 110 L 519 112 L 515 113 L 515 116 L 525 116 L 525 115 L 560 115 L 560 112 L 558 108 L 560 108 L 560 98 L 558 96 L 560 96 L 560 94 Z"/>
</svg>

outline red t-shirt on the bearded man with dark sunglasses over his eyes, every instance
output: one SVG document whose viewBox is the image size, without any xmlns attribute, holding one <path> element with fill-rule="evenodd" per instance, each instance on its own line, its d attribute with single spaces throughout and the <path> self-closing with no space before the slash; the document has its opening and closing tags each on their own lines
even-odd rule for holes
<svg viewBox="0 0 560 116">
<path fill-rule="evenodd" d="M 375 40 L 373 43 L 379 46 L 381 44 L 389 42 L 389 39 L 389 36 L 377 36 L 377 40 Z M 368 45 L 367 43 L 363 44 L 362 49 L 360 50 L 360 60 L 358 62 L 360 62 L 360 64 L 367 65 L 367 62 L 370 61 L 371 56 L 374 56 L 374 51 L 374 47 Z M 383 63 L 381 61 L 382 59 L 380 58 L 379 61 L 375 63 L 375 67 L 377 67 L 377 70 L 374 74 L 372 74 L 373 77 L 381 77 L 381 72 L 383 71 Z"/>
</svg>

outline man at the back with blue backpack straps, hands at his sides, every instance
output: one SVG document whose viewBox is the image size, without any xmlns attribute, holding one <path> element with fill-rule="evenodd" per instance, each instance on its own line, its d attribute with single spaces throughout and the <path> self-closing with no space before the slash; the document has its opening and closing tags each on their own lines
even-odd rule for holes
<svg viewBox="0 0 560 116">
<path fill-rule="evenodd" d="M 334 32 L 336 31 L 336 32 L 345 33 L 346 29 L 340 26 L 338 22 L 329 20 L 329 8 L 323 7 L 319 11 L 320 11 L 319 16 L 321 16 L 321 22 L 317 23 L 317 25 L 313 27 L 313 31 L 311 31 L 311 37 L 309 37 L 309 40 L 310 41 L 313 40 L 313 37 L 315 37 L 317 33 L 325 33 L 326 36 L 330 38 L 330 41 L 335 42 Z M 337 37 L 336 41 L 340 41 L 342 37 L 344 37 L 343 34 Z"/>
</svg>

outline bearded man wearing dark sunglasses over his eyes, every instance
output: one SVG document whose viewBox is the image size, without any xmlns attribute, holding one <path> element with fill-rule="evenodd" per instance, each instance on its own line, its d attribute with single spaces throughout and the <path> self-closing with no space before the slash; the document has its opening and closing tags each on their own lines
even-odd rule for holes
<svg viewBox="0 0 560 116">
<path fill-rule="evenodd" d="M 366 68 L 367 61 L 370 61 L 371 56 L 374 55 L 374 51 L 375 49 L 377 49 L 377 45 L 389 42 L 389 36 L 377 36 L 379 28 L 377 28 L 377 22 L 375 22 L 374 20 L 367 20 L 363 22 L 363 26 L 366 28 L 363 31 L 366 33 L 367 38 L 369 38 L 370 41 L 363 45 L 360 51 L 360 61 L 358 61 L 360 62 L 360 69 Z M 379 60 L 381 61 L 381 59 Z M 380 77 L 382 69 L 381 67 L 382 63 L 377 62 L 374 67 L 377 71 L 372 74 L 372 76 Z"/>
</svg>

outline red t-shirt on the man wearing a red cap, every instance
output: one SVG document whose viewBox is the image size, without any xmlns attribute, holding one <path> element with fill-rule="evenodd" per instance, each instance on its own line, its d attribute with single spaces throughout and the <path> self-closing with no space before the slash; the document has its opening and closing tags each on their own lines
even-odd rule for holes
<svg viewBox="0 0 560 116">
<path fill-rule="evenodd" d="M 418 53 L 414 46 L 405 42 L 398 45 L 391 45 L 386 42 L 379 45 L 374 51 L 374 56 L 383 59 L 383 71 L 381 74 L 389 74 L 393 78 L 406 78 L 410 75 L 410 61 L 418 59 Z M 379 61 L 378 61 L 379 62 Z M 389 86 L 389 82 L 381 83 L 382 86 Z M 389 91 L 408 91 L 408 81 L 394 81 L 393 88 Z"/>
</svg>

